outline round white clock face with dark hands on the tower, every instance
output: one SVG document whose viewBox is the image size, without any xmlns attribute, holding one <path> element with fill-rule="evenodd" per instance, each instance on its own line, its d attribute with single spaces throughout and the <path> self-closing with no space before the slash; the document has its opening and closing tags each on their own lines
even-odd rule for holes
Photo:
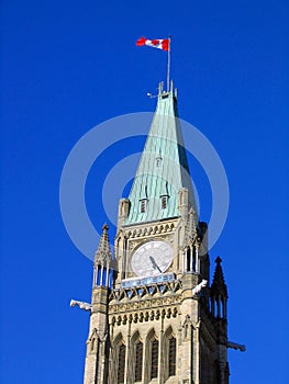
<svg viewBox="0 0 289 384">
<path fill-rule="evenodd" d="M 173 261 L 173 249 L 165 241 L 142 245 L 132 256 L 132 269 L 138 276 L 166 272 Z"/>
</svg>

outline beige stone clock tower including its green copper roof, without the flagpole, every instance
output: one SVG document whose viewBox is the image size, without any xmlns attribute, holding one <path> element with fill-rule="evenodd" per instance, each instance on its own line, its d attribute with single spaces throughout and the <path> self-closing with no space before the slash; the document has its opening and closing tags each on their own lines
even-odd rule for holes
<svg viewBox="0 0 289 384">
<path fill-rule="evenodd" d="M 207 225 L 199 222 L 177 97 L 159 84 L 156 112 L 129 199 L 95 259 L 85 384 L 226 384 L 221 259 L 210 286 Z M 82 306 L 81 306 L 82 305 Z"/>
</svg>

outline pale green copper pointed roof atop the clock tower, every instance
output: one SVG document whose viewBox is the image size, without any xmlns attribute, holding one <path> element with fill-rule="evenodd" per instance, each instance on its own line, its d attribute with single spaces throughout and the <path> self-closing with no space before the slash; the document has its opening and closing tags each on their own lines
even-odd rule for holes
<svg viewBox="0 0 289 384">
<path fill-rule="evenodd" d="M 156 112 L 130 192 L 131 207 L 124 225 L 179 216 L 180 188 L 188 188 L 189 200 L 191 204 L 193 202 L 188 161 L 177 116 L 177 98 L 173 83 L 170 92 L 164 92 L 160 83 Z M 162 197 L 165 196 L 166 207 L 163 205 L 164 201 L 162 204 Z M 142 201 L 144 210 L 141 208 Z"/>
</svg>

